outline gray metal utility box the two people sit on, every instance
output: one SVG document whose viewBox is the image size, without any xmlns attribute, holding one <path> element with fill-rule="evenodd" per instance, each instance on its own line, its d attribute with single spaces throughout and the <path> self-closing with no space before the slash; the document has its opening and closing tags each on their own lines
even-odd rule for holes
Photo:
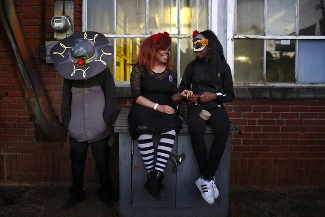
<svg viewBox="0 0 325 217">
<path fill-rule="evenodd" d="M 120 153 L 120 216 L 122 217 L 219 217 L 228 215 L 229 169 L 230 169 L 230 134 L 216 172 L 216 185 L 219 197 L 211 206 L 206 203 L 195 185 L 200 176 L 194 153 L 192 151 L 188 126 L 183 123 L 183 130 L 176 135 L 173 154 L 186 154 L 186 159 L 178 166 L 174 174 L 172 163 L 165 169 L 163 184 L 165 192 L 162 200 L 152 198 L 143 187 L 146 177 L 137 140 L 132 141 L 128 131 L 129 109 L 123 108 L 116 120 L 114 132 L 119 133 Z M 238 132 L 233 124 L 231 132 Z M 154 138 L 157 147 L 159 138 Z M 210 148 L 213 134 L 210 127 L 205 133 L 206 144 Z M 156 149 L 157 150 L 157 149 Z M 209 150 L 209 149 L 208 149 Z"/>
</svg>

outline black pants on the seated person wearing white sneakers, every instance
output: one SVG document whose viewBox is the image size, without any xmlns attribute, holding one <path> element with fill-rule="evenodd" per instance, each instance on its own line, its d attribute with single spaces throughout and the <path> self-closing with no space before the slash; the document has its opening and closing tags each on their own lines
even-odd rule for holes
<svg viewBox="0 0 325 217">
<path fill-rule="evenodd" d="M 193 152 L 195 154 L 201 175 L 206 179 L 213 179 L 227 144 L 230 129 L 229 117 L 225 107 L 217 107 L 209 111 L 211 117 L 208 121 L 203 120 L 199 114 L 202 108 L 191 105 L 187 110 L 187 123 L 191 136 Z M 204 141 L 206 124 L 213 130 L 214 140 L 207 154 Z"/>
</svg>

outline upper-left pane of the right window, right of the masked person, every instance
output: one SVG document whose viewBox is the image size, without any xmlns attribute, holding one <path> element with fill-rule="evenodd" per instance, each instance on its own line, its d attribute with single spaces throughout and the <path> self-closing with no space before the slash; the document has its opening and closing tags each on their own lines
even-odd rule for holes
<svg viewBox="0 0 325 217">
<path fill-rule="evenodd" d="M 264 35 L 264 1 L 237 0 L 237 35 Z"/>
</svg>

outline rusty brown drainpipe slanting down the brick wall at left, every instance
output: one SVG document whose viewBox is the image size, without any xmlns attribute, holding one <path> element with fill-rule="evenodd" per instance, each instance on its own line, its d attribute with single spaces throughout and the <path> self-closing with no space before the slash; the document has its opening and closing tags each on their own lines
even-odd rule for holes
<svg viewBox="0 0 325 217">
<path fill-rule="evenodd" d="M 65 141 L 66 129 L 54 116 L 42 80 L 35 70 L 33 58 L 17 18 L 15 1 L 1 2 L 0 17 L 16 58 L 18 77 L 35 120 L 42 130 L 43 135 L 36 136 L 48 142 Z"/>
</svg>

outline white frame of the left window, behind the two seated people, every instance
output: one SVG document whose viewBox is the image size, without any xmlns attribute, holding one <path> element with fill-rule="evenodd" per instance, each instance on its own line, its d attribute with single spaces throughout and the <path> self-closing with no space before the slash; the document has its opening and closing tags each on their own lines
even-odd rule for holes
<svg viewBox="0 0 325 217">
<path fill-rule="evenodd" d="M 82 31 L 87 31 L 87 2 L 88 1 L 96 1 L 96 0 L 83 0 L 82 1 Z M 116 33 L 116 11 L 117 11 L 117 0 L 114 1 L 114 33 Z M 106 38 L 113 39 L 113 46 L 114 46 L 114 55 L 113 55 L 113 62 L 116 62 L 116 39 L 117 38 L 147 38 L 151 36 L 149 34 L 149 1 L 145 0 L 145 34 L 104 34 Z M 178 4 L 178 9 L 181 8 L 181 0 L 176 0 Z M 212 22 L 213 20 L 213 22 Z M 183 35 L 180 34 L 180 10 L 178 12 L 178 34 L 170 34 L 170 37 L 173 39 L 177 39 L 179 42 L 179 39 L 183 38 L 192 38 L 192 34 L 189 35 Z M 217 23 L 218 23 L 218 0 L 208 0 L 208 29 L 212 30 L 217 34 Z M 203 31 L 203 30 L 200 30 Z M 177 73 L 178 73 L 178 83 L 180 81 L 180 43 L 177 43 Z M 113 65 L 114 67 L 114 82 L 116 87 L 130 87 L 130 82 L 117 82 L 116 81 L 116 64 Z"/>
</svg>

